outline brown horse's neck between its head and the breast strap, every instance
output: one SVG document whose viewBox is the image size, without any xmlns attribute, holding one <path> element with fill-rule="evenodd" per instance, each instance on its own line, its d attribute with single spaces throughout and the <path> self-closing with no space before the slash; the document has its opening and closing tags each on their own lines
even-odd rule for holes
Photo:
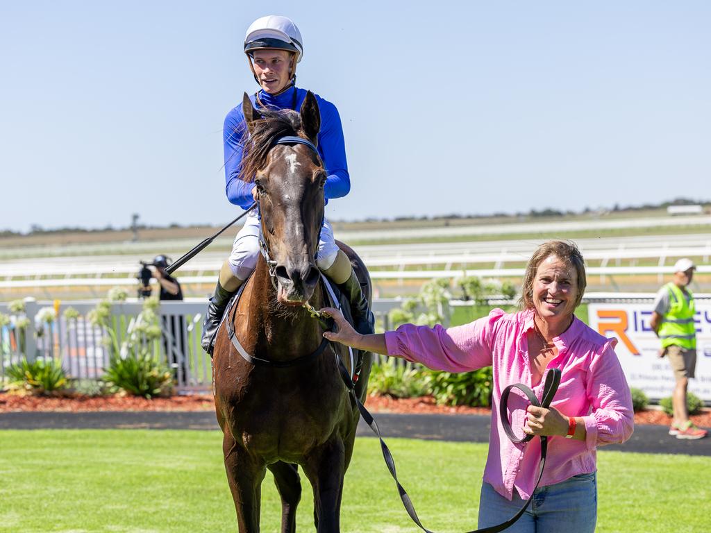
<svg viewBox="0 0 711 533">
<path fill-rule="evenodd" d="M 255 348 L 268 351 L 269 356 L 277 360 L 315 351 L 322 340 L 319 321 L 305 308 L 289 308 L 277 302 L 277 290 L 262 257 L 257 262 L 251 284 L 246 323 L 250 335 L 255 335 Z M 309 301 L 314 308 L 321 308 L 321 284 L 316 286 Z"/>
</svg>

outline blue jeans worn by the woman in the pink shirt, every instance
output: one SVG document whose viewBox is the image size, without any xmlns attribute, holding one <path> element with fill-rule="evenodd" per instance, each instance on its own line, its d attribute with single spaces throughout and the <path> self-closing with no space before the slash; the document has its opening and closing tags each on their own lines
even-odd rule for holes
<svg viewBox="0 0 711 533">
<path fill-rule="evenodd" d="M 488 483 L 481 484 L 479 527 L 506 522 L 523 507 L 523 500 L 513 490 L 508 501 Z M 507 533 L 594 533 L 597 522 L 597 473 L 539 487 L 533 501 Z"/>
</svg>

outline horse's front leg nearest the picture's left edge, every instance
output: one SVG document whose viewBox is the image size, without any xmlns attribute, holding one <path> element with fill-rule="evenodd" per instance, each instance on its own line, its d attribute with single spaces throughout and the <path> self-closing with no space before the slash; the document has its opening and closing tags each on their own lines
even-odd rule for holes
<svg viewBox="0 0 711 533">
<path fill-rule="evenodd" d="M 260 498 L 262 480 L 267 469 L 250 456 L 247 451 L 237 446 L 229 428 L 223 436 L 223 454 L 227 480 L 235 500 L 237 524 L 240 533 L 257 533 L 260 530 Z"/>
</svg>

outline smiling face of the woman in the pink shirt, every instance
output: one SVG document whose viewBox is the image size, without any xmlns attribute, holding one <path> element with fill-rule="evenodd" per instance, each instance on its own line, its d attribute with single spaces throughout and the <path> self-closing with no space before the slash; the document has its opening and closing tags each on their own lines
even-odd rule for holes
<svg viewBox="0 0 711 533">
<path fill-rule="evenodd" d="M 577 271 L 560 257 L 549 255 L 540 262 L 533 281 L 533 306 L 548 323 L 570 319 L 577 305 Z"/>
</svg>

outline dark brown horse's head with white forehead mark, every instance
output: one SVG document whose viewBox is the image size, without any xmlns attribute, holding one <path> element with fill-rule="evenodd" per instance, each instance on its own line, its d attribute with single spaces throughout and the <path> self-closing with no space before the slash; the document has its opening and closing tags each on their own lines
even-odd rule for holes
<svg viewBox="0 0 711 533">
<path fill-rule="evenodd" d="M 276 274 L 280 303 L 300 305 L 311 298 L 319 281 L 316 250 L 324 220 L 326 169 L 316 153 L 321 128 L 319 104 L 307 93 L 299 113 L 272 112 L 242 102 L 250 142 L 242 178 L 254 179 L 262 217 L 262 237 Z M 289 142 L 306 139 L 312 146 Z M 274 268 L 275 267 L 275 268 Z"/>
</svg>

